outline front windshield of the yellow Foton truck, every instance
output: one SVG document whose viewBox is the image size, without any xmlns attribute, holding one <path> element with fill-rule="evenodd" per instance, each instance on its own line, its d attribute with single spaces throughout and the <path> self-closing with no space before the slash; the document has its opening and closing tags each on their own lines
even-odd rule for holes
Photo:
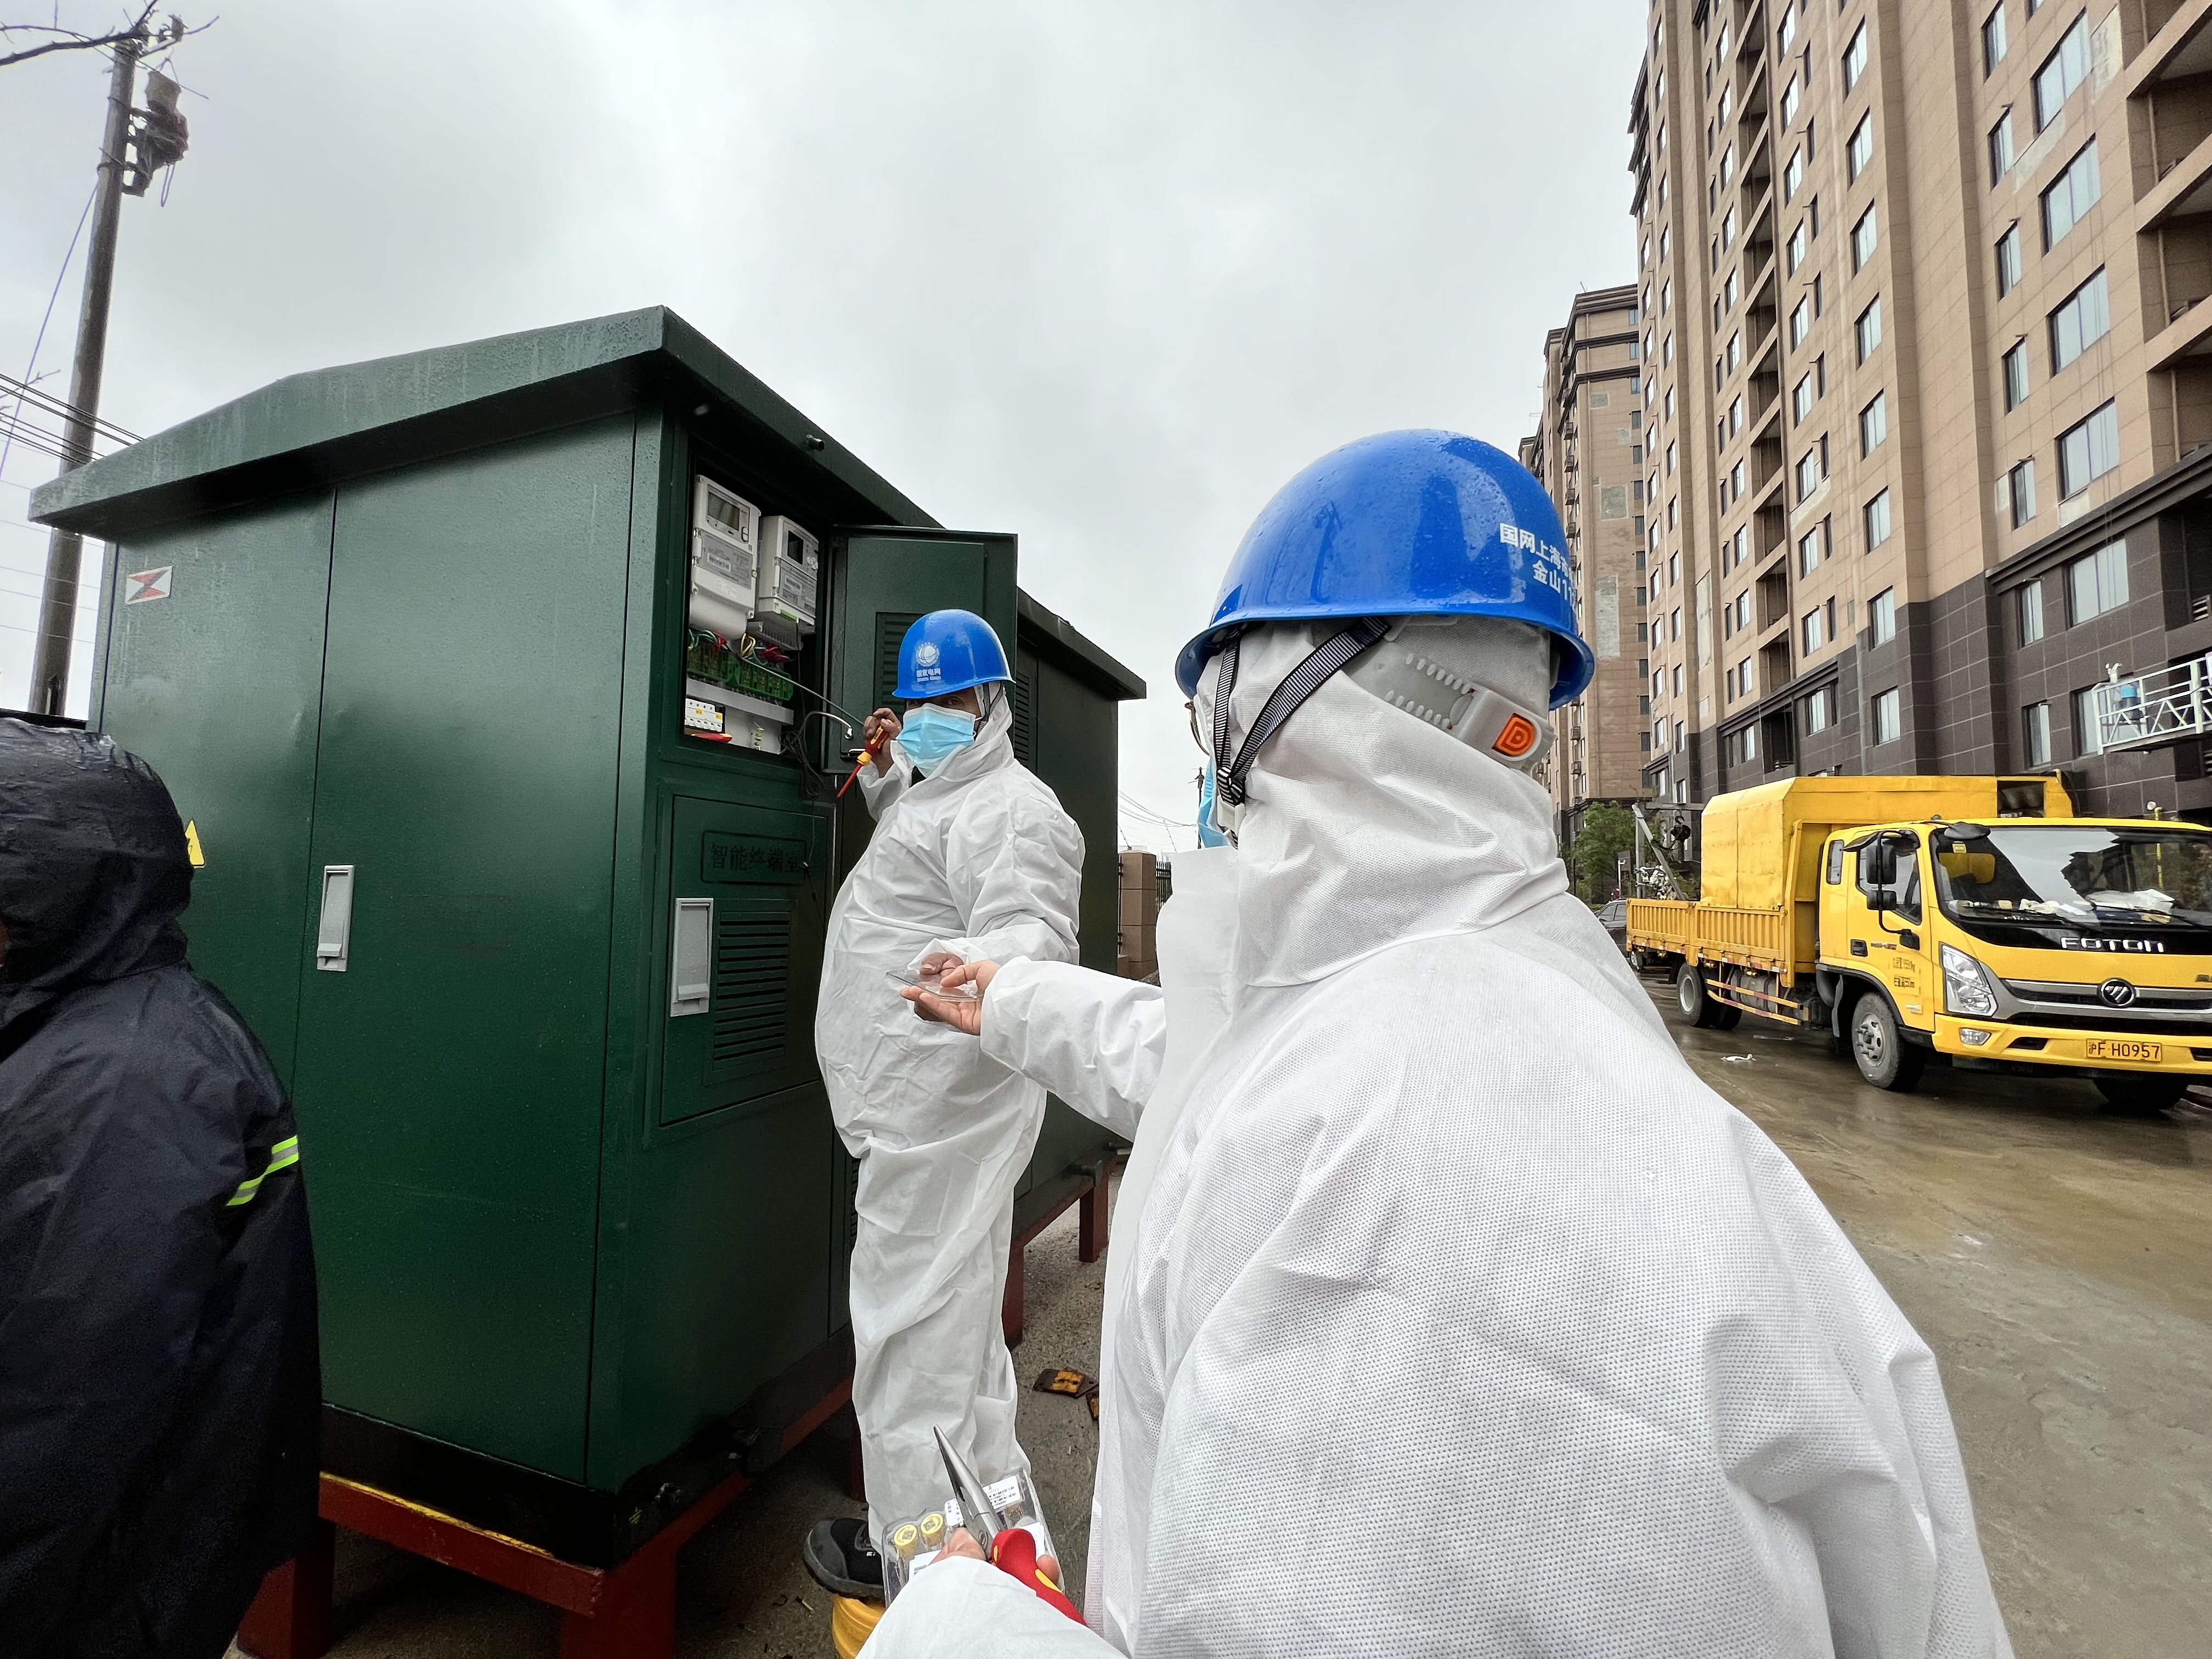
<svg viewBox="0 0 2212 1659">
<path fill-rule="evenodd" d="M 1938 832 L 1936 891 L 1960 920 L 2212 927 L 2212 834 L 2079 823 Z"/>
</svg>

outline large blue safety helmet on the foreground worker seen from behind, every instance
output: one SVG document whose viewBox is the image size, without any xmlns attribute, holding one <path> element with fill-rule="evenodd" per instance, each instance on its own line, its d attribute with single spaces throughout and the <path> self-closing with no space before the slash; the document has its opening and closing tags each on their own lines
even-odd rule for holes
<svg viewBox="0 0 2212 1659">
<path fill-rule="evenodd" d="M 1553 708 L 1597 672 L 1551 498 L 1513 456 L 1455 431 L 1360 438 L 1283 484 L 1175 679 L 1197 692 L 1206 659 L 1243 624 L 1314 617 L 1531 622 L 1553 637 Z"/>
</svg>

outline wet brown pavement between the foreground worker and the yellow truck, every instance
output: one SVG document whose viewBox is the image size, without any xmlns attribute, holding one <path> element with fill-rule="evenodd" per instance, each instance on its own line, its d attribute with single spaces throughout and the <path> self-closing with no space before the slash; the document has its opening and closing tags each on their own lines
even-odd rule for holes
<svg viewBox="0 0 2212 1659">
<path fill-rule="evenodd" d="M 2212 1108 L 1936 1066 L 1889 1095 L 1646 984 L 1936 1349 L 2020 1657 L 2212 1652 Z"/>
</svg>

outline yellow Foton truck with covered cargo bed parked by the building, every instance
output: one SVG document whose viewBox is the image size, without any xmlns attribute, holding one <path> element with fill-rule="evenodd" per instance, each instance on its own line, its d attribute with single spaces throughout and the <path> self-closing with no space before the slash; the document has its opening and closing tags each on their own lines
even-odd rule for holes
<svg viewBox="0 0 2212 1659">
<path fill-rule="evenodd" d="M 1628 900 L 1692 1024 L 1827 1031 L 1860 1077 L 1931 1055 L 2090 1077 L 2117 1110 L 2212 1077 L 2212 830 L 2077 818 L 2057 779 L 1825 776 L 1717 796 L 1699 898 Z"/>
</svg>

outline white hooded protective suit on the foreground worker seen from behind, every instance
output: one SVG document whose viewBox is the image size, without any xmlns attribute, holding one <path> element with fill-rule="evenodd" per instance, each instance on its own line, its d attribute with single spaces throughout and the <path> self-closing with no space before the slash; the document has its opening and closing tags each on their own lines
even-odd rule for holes
<svg viewBox="0 0 2212 1659">
<path fill-rule="evenodd" d="M 1239 730 L 1323 633 L 1245 639 Z M 940 1562 L 874 1659 L 2011 1652 L 1933 1356 L 1692 1075 L 1540 785 L 1329 679 L 1241 847 L 1177 856 L 1159 964 L 984 998 L 987 1051 L 1137 1119 L 1095 1635 Z"/>
</svg>

